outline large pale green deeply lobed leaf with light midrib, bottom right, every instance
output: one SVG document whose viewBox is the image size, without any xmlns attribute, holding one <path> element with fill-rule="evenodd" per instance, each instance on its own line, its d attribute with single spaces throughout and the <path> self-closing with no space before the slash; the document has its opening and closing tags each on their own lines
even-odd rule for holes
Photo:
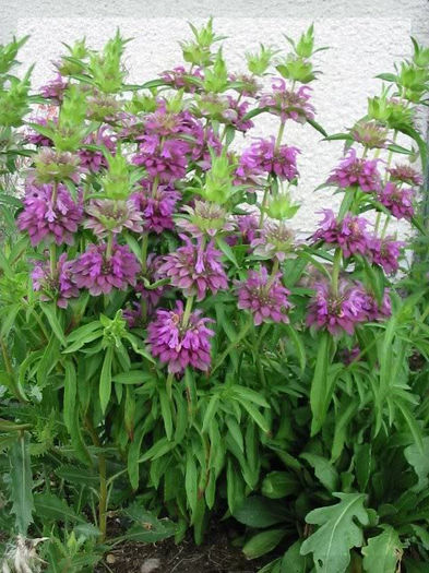
<svg viewBox="0 0 429 573">
<path fill-rule="evenodd" d="M 350 562 L 350 549 L 364 544 L 357 522 L 369 523 L 365 493 L 334 496 L 341 500 L 338 503 L 313 510 L 306 517 L 307 523 L 319 527 L 302 542 L 301 554 L 313 553 L 318 573 L 344 573 Z"/>
</svg>

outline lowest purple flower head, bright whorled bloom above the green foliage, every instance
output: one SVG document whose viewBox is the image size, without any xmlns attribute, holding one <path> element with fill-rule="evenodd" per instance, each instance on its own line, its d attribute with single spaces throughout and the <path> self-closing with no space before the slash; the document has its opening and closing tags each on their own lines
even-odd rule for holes
<svg viewBox="0 0 429 573">
<path fill-rule="evenodd" d="M 211 363 L 210 338 L 214 332 L 207 329 L 212 319 L 201 318 L 201 311 L 191 312 L 183 324 L 183 305 L 179 300 L 175 310 L 158 309 L 156 319 L 147 326 L 151 354 L 168 365 L 171 373 L 181 373 L 188 366 L 206 372 Z"/>
</svg>

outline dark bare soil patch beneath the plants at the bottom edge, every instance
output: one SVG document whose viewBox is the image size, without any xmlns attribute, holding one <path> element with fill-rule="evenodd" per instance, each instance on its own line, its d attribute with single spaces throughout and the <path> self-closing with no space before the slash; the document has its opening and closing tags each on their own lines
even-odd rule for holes
<svg viewBox="0 0 429 573">
<path fill-rule="evenodd" d="M 195 546 L 191 536 L 180 545 L 166 539 L 154 545 L 123 544 L 109 551 L 97 573 L 255 573 L 270 559 L 248 561 L 226 532 L 206 534 Z"/>
</svg>

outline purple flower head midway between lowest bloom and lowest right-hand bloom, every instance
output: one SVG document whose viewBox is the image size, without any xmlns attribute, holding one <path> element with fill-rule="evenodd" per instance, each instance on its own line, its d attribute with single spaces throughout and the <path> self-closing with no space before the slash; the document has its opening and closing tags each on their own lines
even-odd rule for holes
<svg viewBox="0 0 429 573">
<path fill-rule="evenodd" d="M 248 278 L 237 283 L 238 308 L 250 310 L 257 326 L 267 321 L 289 322 L 289 291 L 282 285 L 281 276 L 282 274 L 277 273 L 270 277 L 266 268 L 262 266 L 259 272 L 249 271 Z"/>
</svg>

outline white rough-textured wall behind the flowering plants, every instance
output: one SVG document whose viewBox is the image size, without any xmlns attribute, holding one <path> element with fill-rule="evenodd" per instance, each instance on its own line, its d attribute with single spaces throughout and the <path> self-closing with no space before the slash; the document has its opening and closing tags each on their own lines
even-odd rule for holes
<svg viewBox="0 0 429 573">
<path fill-rule="evenodd" d="M 317 56 L 323 75 L 313 84 L 313 104 L 318 121 L 331 133 L 349 127 L 366 112 L 367 97 L 379 93 L 374 75 L 392 71 L 393 62 L 410 53 L 409 35 L 429 44 L 429 4 L 427 0 L 293 0 L 266 2 L 240 0 L 199 2 L 196 0 L 100 1 L 0 0 L 2 29 L 0 41 L 11 33 L 31 34 L 21 55 L 25 65 L 36 62 L 34 83 L 52 75 L 51 60 L 71 43 L 86 36 L 92 47 L 100 47 L 117 26 L 134 40 L 127 50 L 130 82 L 143 83 L 162 70 L 178 64 L 179 39 L 189 36 L 187 21 L 199 23 L 213 14 L 215 27 L 229 36 L 224 53 L 231 69 L 243 68 L 243 52 L 260 41 L 287 48 L 282 33 L 297 36 L 311 22 L 317 43 L 330 46 Z M 246 16 L 246 17 L 245 17 Z M 420 127 L 426 128 L 421 117 Z M 254 135 L 276 130 L 276 121 L 266 115 L 257 119 Z M 333 206 L 337 198 L 329 190 L 313 189 L 326 178 L 342 155 L 339 142 L 320 143 L 320 134 L 310 127 L 288 122 L 286 142 L 298 145 L 301 172 L 296 191 L 302 208 L 294 226 L 308 232 L 318 218 L 317 211 Z M 406 231 L 402 226 L 401 234 Z"/>
</svg>

